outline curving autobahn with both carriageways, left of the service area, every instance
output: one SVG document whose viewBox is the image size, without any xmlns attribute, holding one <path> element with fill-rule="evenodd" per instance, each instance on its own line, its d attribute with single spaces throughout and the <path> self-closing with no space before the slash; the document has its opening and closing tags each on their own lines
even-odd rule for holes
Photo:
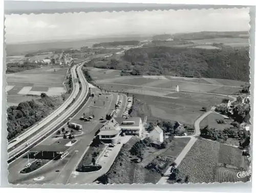
<svg viewBox="0 0 256 193">
<path fill-rule="evenodd" d="M 63 113 L 61 115 L 57 114 L 54 121 L 52 121 L 49 125 L 47 125 L 46 128 L 44 128 L 44 130 L 42 130 L 40 132 L 37 131 L 37 133 L 32 138 L 28 139 L 26 141 L 26 144 L 29 143 L 28 146 L 26 146 L 26 144 L 23 143 L 23 144 L 20 144 L 15 149 L 13 149 L 13 151 L 11 151 L 8 155 L 9 160 L 12 159 L 13 157 L 19 155 L 21 152 L 24 152 L 24 153 L 22 155 L 19 155 L 18 157 L 23 156 L 25 153 L 27 153 L 29 148 L 31 148 L 33 145 L 35 145 L 37 143 L 37 141 L 39 141 L 44 136 L 49 134 L 51 131 L 54 130 L 54 128 L 57 125 L 59 125 L 59 123 L 61 123 L 63 120 L 65 120 L 67 117 L 69 117 L 80 106 L 80 104 L 83 102 L 83 100 L 87 97 L 87 95 L 89 93 L 89 86 L 81 72 L 81 67 L 82 66 L 78 66 L 78 68 L 77 68 L 77 74 L 79 76 L 79 79 L 81 81 L 81 86 L 82 86 L 81 94 L 78 96 L 78 99 L 73 103 L 73 105 L 65 113 Z M 74 67 L 73 70 L 75 71 L 75 69 L 76 69 L 76 67 Z M 76 75 L 74 77 L 76 77 Z M 78 81 L 75 82 L 74 90 L 75 90 L 75 92 L 79 93 Z M 71 100 L 73 100 L 73 98 L 71 98 Z M 24 151 L 24 149 L 27 149 L 27 151 Z"/>
</svg>

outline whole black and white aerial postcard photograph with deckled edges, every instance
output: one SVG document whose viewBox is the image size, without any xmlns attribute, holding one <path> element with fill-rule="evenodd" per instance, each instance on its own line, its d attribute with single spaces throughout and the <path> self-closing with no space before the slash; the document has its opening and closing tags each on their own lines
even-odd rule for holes
<svg viewBox="0 0 256 193">
<path fill-rule="evenodd" d="M 8 182 L 249 182 L 249 12 L 5 14 Z"/>
</svg>

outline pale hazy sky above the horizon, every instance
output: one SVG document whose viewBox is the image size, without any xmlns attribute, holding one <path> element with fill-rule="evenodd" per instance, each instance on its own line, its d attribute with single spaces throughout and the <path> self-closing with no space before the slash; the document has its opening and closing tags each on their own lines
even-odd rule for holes
<svg viewBox="0 0 256 193">
<path fill-rule="evenodd" d="M 7 44 L 198 31 L 248 31 L 249 8 L 5 15 Z"/>
</svg>

